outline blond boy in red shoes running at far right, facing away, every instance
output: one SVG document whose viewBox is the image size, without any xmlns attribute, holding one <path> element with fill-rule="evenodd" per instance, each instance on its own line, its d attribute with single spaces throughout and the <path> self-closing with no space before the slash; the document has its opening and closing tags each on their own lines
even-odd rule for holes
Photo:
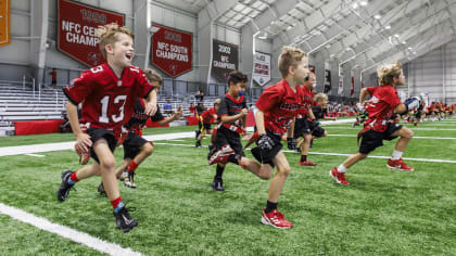
<svg viewBox="0 0 456 256">
<path fill-rule="evenodd" d="M 329 174 L 340 184 L 350 184 L 345 180 L 345 171 L 357 162 L 366 158 L 370 152 L 383 145 L 383 140 L 393 140 L 400 137 L 393 156 L 388 161 L 388 168 L 413 171 L 414 168 L 407 166 L 402 161 L 402 154 L 414 132 L 400 124 L 390 121 L 394 113 L 407 113 L 408 110 L 418 107 L 420 99 L 418 97 L 408 99 L 404 104 L 397 95 L 396 87 L 404 85 L 404 73 L 401 63 L 390 64 L 377 69 L 379 87 L 364 88 L 359 94 L 359 103 L 364 104 L 367 94 L 370 94 L 370 103 L 366 106 L 369 116 L 364 129 L 358 133 L 362 143 L 356 154 L 350 156 L 339 167 L 334 167 Z"/>
</svg>

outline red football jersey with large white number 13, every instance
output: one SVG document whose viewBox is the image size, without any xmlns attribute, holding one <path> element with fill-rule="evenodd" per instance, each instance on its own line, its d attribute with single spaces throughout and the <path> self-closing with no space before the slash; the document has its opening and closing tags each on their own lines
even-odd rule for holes
<svg viewBox="0 0 456 256">
<path fill-rule="evenodd" d="M 139 67 L 125 67 L 118 79 L 107 64 L 83 72 L 63 91 L 77 105 L 83 102 L 83 119 L 90 127 L 115 129 L 131 117 L 136 98 L 145 98 L 153 86 Z"/>
</svg>

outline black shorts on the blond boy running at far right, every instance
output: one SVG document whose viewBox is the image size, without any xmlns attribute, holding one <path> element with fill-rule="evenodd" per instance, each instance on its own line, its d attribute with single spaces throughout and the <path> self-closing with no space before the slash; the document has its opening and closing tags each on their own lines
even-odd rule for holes
<svg viewBox="0 0 456 256">
<path fill-rule="evenodd" d="M 397 137 L 392 135 L 402 128 L 400 124 L 388 123 L 388 128 L 383 132 L 368 130 L 364 132 L 363 140 L 359 145 L 359 153 L 369 154 L 375 149 L 383 145 L 383 140 L 394 140 Z"/>
</svg>

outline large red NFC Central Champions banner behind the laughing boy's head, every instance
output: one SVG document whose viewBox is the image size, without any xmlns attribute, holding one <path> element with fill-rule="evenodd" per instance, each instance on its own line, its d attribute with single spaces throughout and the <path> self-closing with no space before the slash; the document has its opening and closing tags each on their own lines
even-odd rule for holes
<svg viewBox="0 0 456 256">
<path fill-rule="evenodd" d="M 124 26 L 125 15 L 69 0 L 59 0 L 58 12 L 59 51 L 88 66 L 104 63 L 96 30 L 110 23 Z"/>
</svg>

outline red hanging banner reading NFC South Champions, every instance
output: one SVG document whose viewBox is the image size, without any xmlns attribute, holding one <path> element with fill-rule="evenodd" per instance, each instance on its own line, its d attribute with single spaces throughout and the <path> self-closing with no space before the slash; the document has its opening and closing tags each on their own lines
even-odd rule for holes
<svg viewBox="0 0 456 256">
<path fill-rule="evenodd" d="M 151 63 L 170 77 L 190 72 L 192 66 L 193 35 L 152 24 Z"/>
</svg>

